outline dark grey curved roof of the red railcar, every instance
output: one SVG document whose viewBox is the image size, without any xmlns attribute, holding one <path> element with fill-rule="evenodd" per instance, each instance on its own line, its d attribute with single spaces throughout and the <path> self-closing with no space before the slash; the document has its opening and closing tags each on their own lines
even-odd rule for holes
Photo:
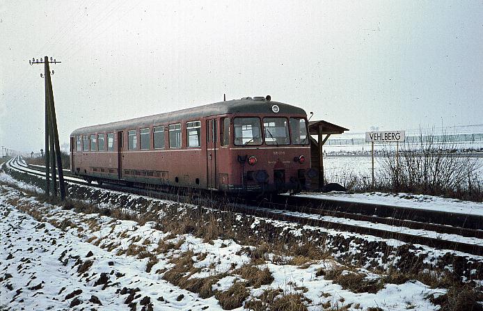
<svg viewBox="0 0 483 311">
<path fill-rule="evenodd" d="M 301 114 L 306 115 L 303 109 L 284 104 L 282 102 L 255 100 L 255 99 L 233 99 L 226 102 L 216 102 L 214 104 L 207 104 L 193 108 L 171 111 L 166 113 L 159 113 L 156 115 L 148 115 L 145 117 L 134 118 L 129 120 L 116 121 L 106 123 L 103 125 L 93 125 L 89 127 L 81 127 L 72 131 L 70 136 L 77 134 L 94 133 L 97 131 L 117 131 L 120 129 L 127 129 L 129 127 L 149 127 L 150 125 L 167 125 L 166 122 L 174 122 L 177 120 L 189 120 L 196 118 L 209 117 L 212 115 L 224 115 L 230 113 L 266 113 L 267 115 L 274 115 L 271 111 L 273 105 L 278 105 L 280 114 Z"/>
</svg>

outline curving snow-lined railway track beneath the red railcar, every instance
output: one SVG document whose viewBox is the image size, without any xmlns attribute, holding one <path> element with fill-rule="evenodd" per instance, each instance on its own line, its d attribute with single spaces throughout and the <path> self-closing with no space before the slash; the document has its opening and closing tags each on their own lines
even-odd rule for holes
<svg viewBox="0 0 483 311">
<path fill-rule="evenodd" d="M 32 168 L 22 164 L 19 159 L 9 161 L 7 165 L 22 173 L 40 177 L 45 174 L 40 168 Z M 84 180 L 72 176 L 65 176 L 65 181 L 74 184 L 88 184 Z M 132 189 L 110 184 L 102 186 L 91 184 L 90 186 L 125 191 L 153 198 L 181 199 L 184 202 L 187 200 L 193 202 L 193 198 L 183 197 L 179 194 L 154 193 L 152 190 Z M 209 200 L 217 200 L 217 198 L 214 196 Z M 200 204 L 203 204 L 202 201 L 207 202 L 207 199 L 200 198 Z M 388 207 L 385 212 L 377 212 L 385 206 L 365 206 L 354 203 L 345 205 L 343 202 L 331 202 L 331 204 L 328 204 L 324 200 L 289 196 L 274 196 L 271 200 L 264 200 L 261 203 L 254 201 L 224 202 L 223 207 L 226 208 L 226 205 L 229 205 L 232 212 L 271 218 L 276 221 L 288 221 L 343 232 L 368 234 L 383 239 L 396 239 L 409 244 L 421 244 L 441 250 L 458 250 L 473 255 L 483 255 L 482 230 L 404 219 L 402 217 L 408 212 L 404 208 L 402 211 L 399 211 L 398 207 Z M 374 214 L 370 215 L 370 212 L 374 212 Z M 383 217 L 377 214 L 387 214 L 388 212 L 392 213 L 393 217 Z M 411 210 L 411 212 L 414 212 L 414 210 Z M 418 217 L 421 216 L 418 215 Z"/>
</svg>

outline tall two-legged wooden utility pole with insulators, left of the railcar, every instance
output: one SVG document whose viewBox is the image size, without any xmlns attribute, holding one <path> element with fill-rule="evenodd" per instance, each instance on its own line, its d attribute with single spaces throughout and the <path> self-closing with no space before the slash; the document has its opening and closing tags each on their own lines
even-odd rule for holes
<svg viewBox="0 0 483 311">
<path fill-rule="evenodd" d="M 61 148 L 58 143 L 58 131 L 57 131 L 57 119 L 56 119 L 56 110 L 54 105 L 54 92 L 52 91 L 52 79 L 50 78 L 51 72 L 49 63 L 61 63 L 60 61 L 56 61 L 55 59 L 52 60 L 52 57 L 49 58 L 45 56 L 43 61 L 39 61 L 38 59 L 35 61 L 35 58 L 32 61 L 29 61 L 30 65 L 33 64 L 44 64 L 44 74 L 45 74 L 45 193 L 49 196 L 50 195 L 50 178 L 49 174 L 52 174 L 52 182 L 53 182 L 53 189 L 52 194 L 57 196 L 57 183 L 56 183 L 56 161 L 57 161 L 57 168 L 58 168 L 58 181 L 61 190 L 61 200 L 65 200 L 65 186 L 64 186 L 64 177 L 63 177 L 63 170 L 62 170 L 62 157 L 61 157 Z M 54 71 L 52 71 L 54 74 Z M 40 74 L 42 77 L 42 74 Z M 52 154 L 52 158 L 51 156 Z M 52 168 L 52 173 L 49 172 Z"/>
</svg>

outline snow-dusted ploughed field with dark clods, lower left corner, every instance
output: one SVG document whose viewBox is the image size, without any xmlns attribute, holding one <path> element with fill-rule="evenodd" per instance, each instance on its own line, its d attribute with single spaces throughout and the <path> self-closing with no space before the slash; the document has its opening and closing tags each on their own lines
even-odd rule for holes
<svg viewBox="0 0 483 311">
<path fill-rule="evenodd" d="M 9 198 L 17 199 L 18 193 L 8 191 L 15 194 L 0 196 L 0 306 L 13 310 L 118 310 L 128 297 L 119 292 L 127 287 L 140 289 L 135 301 L 150 297 L 155 310 L 203 310 L 206 306 L 219 309 L 214 298 L 201 299 L 153 278 L 143 271 L 142 260 L 116 256 L 86 243 L 77 234 L 19 212 L 8 203 Z M 84 272 L 79 261 L 92 265 Z M 102 273 L 110 282 L 102 280 Z M 184 297 L 179 299 L 180 295 Z M 164 301 L 157 300 L 161 297 Z M 74 306 L 77 302 L 79 305 Z"/>
</svg>

